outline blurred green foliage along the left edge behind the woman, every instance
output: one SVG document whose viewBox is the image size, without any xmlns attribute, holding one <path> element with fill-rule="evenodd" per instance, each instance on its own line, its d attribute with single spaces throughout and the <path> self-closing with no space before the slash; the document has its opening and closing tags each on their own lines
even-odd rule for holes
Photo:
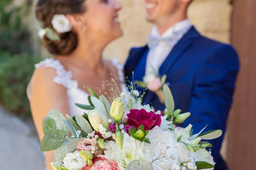
<svg viewBox="0 0 256 170">
<path fill-rule="evenodd" d="M 12 0 L 0 1 L 0 103 L 21 117 L 31 116 L 26 86 L 41 58 L 33 54 L 31 34 L 23 24 L 32 1 L 6 10 Z"/>
</svg>

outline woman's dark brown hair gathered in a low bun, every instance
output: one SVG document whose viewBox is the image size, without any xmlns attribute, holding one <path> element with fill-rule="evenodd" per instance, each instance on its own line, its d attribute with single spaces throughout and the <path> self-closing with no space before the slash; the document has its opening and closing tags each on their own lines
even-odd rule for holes
<svg viewBox="0 0 256 170">
<path fill-rule="evenodd" d="M 86 0 L 39 0 L 36 8 L 36 17 L 42 22 L 44 28 L 53 28 L 52 19 L 56 14 L 72 14 L 83 13 L 86 9 L 84 7 Z M 77 47 L 77 34 L 72 31 L 65 33 L 54 33 L 59 35 L 59 41 L 52 41 L 44 36 L 43 42 L 47 50 L 51 54 L 66 55 L 71 53 Z"/>
</svg>

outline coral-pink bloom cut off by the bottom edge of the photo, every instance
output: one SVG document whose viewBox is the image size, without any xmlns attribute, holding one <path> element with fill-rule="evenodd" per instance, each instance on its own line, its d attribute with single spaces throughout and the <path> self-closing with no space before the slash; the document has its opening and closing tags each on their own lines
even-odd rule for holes
<svg viewBox="0 0 256 170">
<path fill-rule="evenodd" d="M 97 162 L 93 163 L 90 170 L 121 170 L 116 161 L 101 158 Z"/>
</svg>

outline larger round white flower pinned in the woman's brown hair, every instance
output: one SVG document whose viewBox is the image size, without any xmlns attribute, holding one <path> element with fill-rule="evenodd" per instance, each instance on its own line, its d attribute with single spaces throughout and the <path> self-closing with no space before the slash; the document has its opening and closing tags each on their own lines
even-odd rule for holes
<svg viewBox="0 0 256 170">
<path fill-rule="evenodd" d="M 69 32 L 72 29 L 71 23 L 63 14 L 53 16 L 52 25 L 58 33 Z"/>
</svg>

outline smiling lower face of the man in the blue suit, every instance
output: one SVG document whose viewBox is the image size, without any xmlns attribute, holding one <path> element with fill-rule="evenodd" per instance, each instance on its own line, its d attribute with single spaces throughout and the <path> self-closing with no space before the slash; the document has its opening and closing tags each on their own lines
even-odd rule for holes
<svg viewBox="0 0 256 170">
<path fill-rule="evenodd" d="M 157 23 L 159 20 L 172 15 L 179 8 L 180 0 L 145 0 L 147 20 Z"/>
</svg>

